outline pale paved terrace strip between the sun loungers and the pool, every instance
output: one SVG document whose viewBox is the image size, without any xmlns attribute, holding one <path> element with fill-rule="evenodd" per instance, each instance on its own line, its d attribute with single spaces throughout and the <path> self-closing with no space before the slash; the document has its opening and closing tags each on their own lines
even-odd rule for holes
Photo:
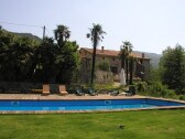
<svg viewBox="0 0 185 139">
<path fill-rule="evenodd" d="M 51 94 L 43 96 L 41 94 L 0 94 L 0 99 L 127 99 L 127 98 L 145 98 L 144 96 L 111 96 L 109 94 L 99 94 L 98 96 L 76 96 L 73 94 L 66 96 L 59 96 L 57 94 Z"/>
</svg>

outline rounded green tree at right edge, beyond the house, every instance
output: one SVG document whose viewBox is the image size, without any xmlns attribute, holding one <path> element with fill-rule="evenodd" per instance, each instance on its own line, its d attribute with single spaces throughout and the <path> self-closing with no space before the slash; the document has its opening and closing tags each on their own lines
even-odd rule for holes
<svg viewBox="0 0 185 139">
<path fill-rule="evenodd" d="M 185 93 L 185 50 L 181 45 L 167 47 L 160 60 L 163 84 L 177 93 Z"/>
</svg>

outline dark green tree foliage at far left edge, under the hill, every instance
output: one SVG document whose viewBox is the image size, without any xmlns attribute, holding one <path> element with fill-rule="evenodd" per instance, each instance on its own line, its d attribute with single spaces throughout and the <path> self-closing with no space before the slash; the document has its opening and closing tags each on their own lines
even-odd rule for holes
<svg viewBox="0 0 185 139">
<path fill-rule="evenodd" d="M 32 57 L 39 43 L 6 30 L 0 33 L 0 79 L 29 81 Z"/>
</svg>

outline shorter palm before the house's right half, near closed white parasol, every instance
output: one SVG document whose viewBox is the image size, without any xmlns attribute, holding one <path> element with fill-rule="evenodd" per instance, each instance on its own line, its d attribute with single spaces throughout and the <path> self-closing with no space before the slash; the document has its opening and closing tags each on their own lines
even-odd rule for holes
<svg viewBox="0 0 185 139">
<path fill-rule="evenodd" d="M 128 84 L 128 78 L 129 78 L 129 54 L 132 52 L 132 44 L 128 41 L 122 42 L 123 45 L 121 45 L 121 50 L 120 50 L 120 57 L 121 57 L 121 66 L 122 68 L 124 68 L 126 66 L 126 82 Z M 124 65 L 126 63 L 126 65 Z"/>
</svg>

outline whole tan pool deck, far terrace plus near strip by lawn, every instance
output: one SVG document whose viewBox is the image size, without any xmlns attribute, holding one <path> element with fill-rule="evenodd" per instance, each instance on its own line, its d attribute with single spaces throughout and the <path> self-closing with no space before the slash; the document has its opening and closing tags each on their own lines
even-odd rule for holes
<svg viewBox="0 0 185 139">
<path fill-rule="evenodd" d="M 152 98 L 152 99 L 163 99 L 163 100 L 172 100 L 165 98 L 154 98 L 154 97 L 146 97 L 146 96 L 111 96 L 109 94 L 99 94 L 98 96 L 76 96 L 76 95 L 66 95 L 59 96 L 57 94 L 52 94 L 47 96 L 43 96 L 41 94 L 0 94 L 0 100 L 77 100 L 77 99 L 130 99 L 130 98 Z M 173 100 L 178 103 L 185 103 L 182 100 Z M 63 111 L 63 110 L 42 110 L 42 111 L 0 111 L 0 114 L 61 114 L 61 113 L 102 113 L 102 111 L 123 111 L 123 110 L 148 110 L 148 109 L 185 109 L 185 106 L 165 106 L 165 107 L 155 107 L 155 108 L 135 108 L 135 109 L 117 109 L 117 110 L 80 110 L 80 111 Z"/>
</svg>

